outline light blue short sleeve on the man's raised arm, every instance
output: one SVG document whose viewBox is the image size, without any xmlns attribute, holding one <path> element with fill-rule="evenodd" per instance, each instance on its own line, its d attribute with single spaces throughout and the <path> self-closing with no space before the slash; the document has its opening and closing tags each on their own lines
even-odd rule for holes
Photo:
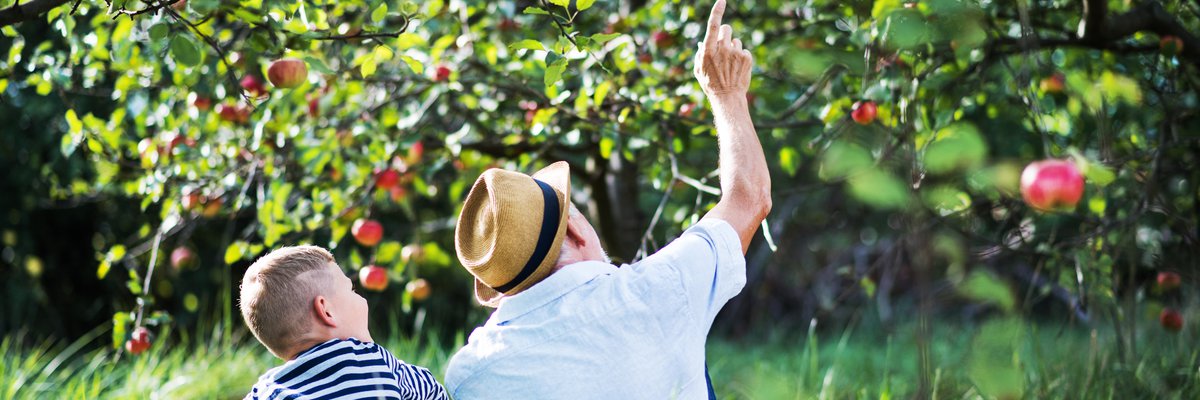
<svg viewBox="0 0 1200 400">
<path fill-rule="evenodd" d="M 688 308 L 703 318 L 704 327 L 746 283 L 742 239 L 728 222 L 718 219 L 702 219 L 666 247 L 635 264 L 635 268 L 661 267 L 678 274 Z"/>
</svg>

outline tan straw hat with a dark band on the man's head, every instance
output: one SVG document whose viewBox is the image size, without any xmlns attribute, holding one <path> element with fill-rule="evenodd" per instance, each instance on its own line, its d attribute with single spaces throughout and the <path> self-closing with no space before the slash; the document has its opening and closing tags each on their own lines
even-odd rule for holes
<svg viewBox="0 0 1200 400">
<path fill-rule="evenodd" d="M 566 234 L 570 166 L 533 177 L 492 168 L 479 175 L 455 226 L 458 261 L 475 276 L 475 299 L 496 308 L 550 275 Z"/>
</svg>

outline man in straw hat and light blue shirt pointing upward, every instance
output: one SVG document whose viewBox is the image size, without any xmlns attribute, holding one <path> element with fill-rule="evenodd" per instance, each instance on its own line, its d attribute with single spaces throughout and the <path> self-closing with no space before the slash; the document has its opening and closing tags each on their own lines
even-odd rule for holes
<svg viewBox="0 0 1200 400">
<path fill-rule="evenodd" d="M 497 308 L 446 369 L 455 399 L 706 399 L 704 341 L 745 285 L 745 251 L 770 210 L 750 120 L 752 59 L 718 0 L 695 74 L 716 120 L 721 198 L 659 252 L 607 263 L 570 202 L 565 162 L 490 169 L 467 195 L 455 249 L 475 295 Z"/>
</svg>

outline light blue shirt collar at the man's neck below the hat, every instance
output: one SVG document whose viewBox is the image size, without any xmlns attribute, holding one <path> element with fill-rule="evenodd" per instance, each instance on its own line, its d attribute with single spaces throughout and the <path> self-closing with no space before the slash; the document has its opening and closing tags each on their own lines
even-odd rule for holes
<svg viewBox="0 0 1200 400">
<path fill-rule="evenodd" d="M 583 261 L 568 264 L 523 292 L 502 298 L 500 305 L 492 314 L 490 322 L 498 324 L 512 321 L 563 297 L 596 276 L 616 271 L 617 265 L 599 261 Z"/>
</svg>

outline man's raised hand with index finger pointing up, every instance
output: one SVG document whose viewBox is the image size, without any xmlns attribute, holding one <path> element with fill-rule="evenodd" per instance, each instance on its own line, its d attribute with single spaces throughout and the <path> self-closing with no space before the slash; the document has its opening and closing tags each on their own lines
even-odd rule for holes
<svg viewBox="0 0 1200 400">
<path fill-rule="evenodd" d="M 750 90 L 750 68 L 754 56 L 733 38 L 733 26 L 721 25 L 725 0 L 716 0 L 708 14 L 708 31 L 696 52 L 696 80 L 709 101 L 724 95 L 745 96 Z"/>
</svg>

